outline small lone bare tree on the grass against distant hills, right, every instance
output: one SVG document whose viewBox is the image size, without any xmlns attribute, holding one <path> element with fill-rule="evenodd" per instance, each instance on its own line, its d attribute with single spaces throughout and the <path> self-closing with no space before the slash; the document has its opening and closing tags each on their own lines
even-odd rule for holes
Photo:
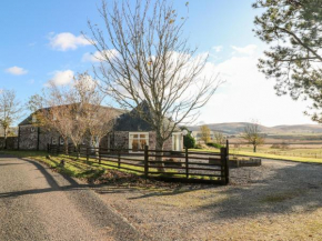
<svg viewBox="0 0 322 241">
<path fill-rule="evenodd" d="M 264 135 L 261 133 L 260 125 L 256 121 L 253 121 L 244 127 L 241 138 L 253 145 L 254 152 L 256 152 L 258 145 L 264 143 Z"/>
</svg>

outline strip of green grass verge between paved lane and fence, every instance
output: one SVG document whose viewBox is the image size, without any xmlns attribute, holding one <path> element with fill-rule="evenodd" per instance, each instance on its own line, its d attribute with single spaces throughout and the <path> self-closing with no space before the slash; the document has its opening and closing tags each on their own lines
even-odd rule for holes
<svg viewBox="0 0 322 241">
<path fill-rule="evenodd" d="M 133 167 L 131 164 L 121 163 L 121 169 L 118 168 L 118 163 L 111 162 L 109 160 L 102 160 L 101 164 L 97 159 L 90 158 L 88 161 L 84 157 L 77 160 L 74 157 L 69 157 L 64 154 L 60 155 L 50 155 L 48 158 L 47 152 L 41 151 L 0 151 L 0 154 L 9 154 L 18 158 L 32 159 L 39 162 L 42 162 L 50 167 L 53 171 L 57 171 L 62 174 L 67 174 L 73 178 L 84 180 L 89 183 L 118 183 L 127 185 L 144 185 L 144 187 L 169 187 L 177 185 L 174 183 L 161 182 L 155 180 L 147 180 L 143 178 L 143 168 Z M 64 165 L 61 165 L 61 160 L 64 160 Z M 122 169 L 123 168 L 123 169 Z M 130 170 L 131 169 L 131 170 Z M 157 171 L 157 169 L 151 168 L 151 171 Z M 185 174 L 172 173 L 175 170 L 167 169 L 167 174 L 151 174 L 151 178 L 184 178 Z M 190 175 L 193 179 L 200 180 L 217 180 L 213 177 L 198 177 Z"/>
</svg>

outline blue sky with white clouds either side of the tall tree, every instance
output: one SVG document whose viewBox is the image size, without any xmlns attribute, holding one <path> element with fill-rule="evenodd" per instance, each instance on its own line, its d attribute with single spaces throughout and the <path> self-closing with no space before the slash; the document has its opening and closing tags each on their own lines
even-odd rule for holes
<svg viewBox="0 0 322 241">
<path fill-rule="evenodd" d="M 253 1 L 189 1 L 184 36 L 198 54 L 209 54 L 208 71 L 224 80 L 201 109 L 198 123 L 313 123 L 303 114 L 309 102 L 275 96 L 274 80 L 258 71 L 258 59 L 268 47 L 252 31 L 260 13 L 252 9 Z M 175 0 L 174 8 L 183 13 L 185 2 Z M 88 20 L 103 29 L 100 4 L 101 0 L 1 1 L 0 89 L 13 89 L 27 102 L 50 80 L 69 84 L 73 74 L 91 73 L 95 49 L 81 32 L 89 33 Z"/>
</svg>

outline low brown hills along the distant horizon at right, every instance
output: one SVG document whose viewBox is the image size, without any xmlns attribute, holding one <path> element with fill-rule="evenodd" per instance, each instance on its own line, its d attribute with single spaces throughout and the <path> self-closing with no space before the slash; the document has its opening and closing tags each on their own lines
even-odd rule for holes
<svg viewBox="0 0 322 241">
<path fill-rule="evenodd" d="M 229 123 L 211 123 L 207 124 L 211 130 L 219 131 L 225 134 L 239 134 L 244 128 L 250 124 L 249 122 L 229 122 Z M 199 131 L 200 125 L 188 127 L 191 131 Z M 265 127 L 260 124 L 262 133 L 266 134 L 306 134 L 306 133 L 321 133 L 322 125 L 320 124 L 294 124 L 294 125 L 276 125 Z"/>
</svg>

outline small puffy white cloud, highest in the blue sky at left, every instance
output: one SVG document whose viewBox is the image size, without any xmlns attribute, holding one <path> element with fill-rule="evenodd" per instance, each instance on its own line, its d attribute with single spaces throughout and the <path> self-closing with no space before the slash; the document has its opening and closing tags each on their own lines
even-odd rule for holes
<svg viewBox="0 0 322 241">
<path fill-rule="evenodd" d="M 61 32 L 56 36 L 49 33 L 49 44 L 59 51 L 76 50 L 79 47 L 91 44 L 83 36 L 74 36 L 70 32 Z"/>
</svg>

